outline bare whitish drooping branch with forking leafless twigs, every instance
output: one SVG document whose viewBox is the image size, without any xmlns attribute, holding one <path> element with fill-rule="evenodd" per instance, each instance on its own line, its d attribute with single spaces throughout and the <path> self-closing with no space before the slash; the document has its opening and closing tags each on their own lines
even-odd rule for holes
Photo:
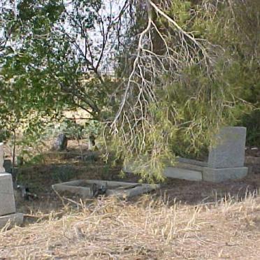
<svg viewBox="0 0 260 260">
<path fill-rule="evenodd" d="M 128 138 L 124 127 L 126 123 L 131 135 L 134 131 L 138 131 L 138 133 L 142 131 L 145 136 L 145 129 L 140 126 L 144 122 L 150 124 L 148 106 L 151 103 L 157 103 L 156 89 L 164 87 L 159 82 L 162 74 L 169 74 L 174 80 L 183 66 L 202 60 L 205 61 L 205 64 L 210 62 L 210 55 L 204 46 L 205 41 L 196 39 L 192 33 L 182 29 L 154 2 L 147 0 L 146 10 L 147 26 L 138 35 L 136 54 L 132 55 L 134 57 L 132 70 L 125 84 L 122 84 L 124 92 L 121 103 L 112 124 L 110 124 L 111 133 L 117 134 L 122 131 L 126 141 Z M 152 10 L 157 14 L 157 17 L 152 17 Z M 158 17 L 164 17 L 170 24 L 169 27 L 161 31 L 157 26 Z M 171 43 L 171 39 L 165 34 L 166 31 L 170 35 L 175 34 L 175 44 Z M 154 37 L 157 36 L 161 39 L 164 53 L 159 54 L 157 50 L 154 50 Z M 163 48 L 161 47 L 161 49 Z M 198 54 L 199 52 L 202 53 L 202 56 Z"/>
</svg>

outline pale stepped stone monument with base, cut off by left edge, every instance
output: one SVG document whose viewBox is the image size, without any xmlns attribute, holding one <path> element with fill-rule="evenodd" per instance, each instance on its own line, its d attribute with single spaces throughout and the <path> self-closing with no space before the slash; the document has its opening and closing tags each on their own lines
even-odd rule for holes
<svg viewBox="0 0 260 260">
<path fill-rule="evenodd" d="M 16 213 L 13 179 L 3 168 L 3 143 L 0 143 L 0 229 L 6 224 L 22 224 L 22 213 Z"/>
</svg>

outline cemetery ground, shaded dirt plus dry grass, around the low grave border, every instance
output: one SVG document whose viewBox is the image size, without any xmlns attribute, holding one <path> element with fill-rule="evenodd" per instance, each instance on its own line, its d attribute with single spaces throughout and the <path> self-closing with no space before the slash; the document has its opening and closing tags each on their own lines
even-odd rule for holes
<svg viewBox="0 0 260 260">
<path fill-rule="evenodd" d="M 16 192 L 24 225 L 0 231 L 0 259 L 259 259 L 260 165 L 258 154 L 247 155 L 253 157 L 247 161 L 251 171 L 243 180 L 171 179 L 127 201 L 82 201 L 56 194 L 51 185 L 122 180 L 121 168 L 69 141 L 68 152 L 45 152 L 20 168 L 20 182 L 38 198 L 26 201 Z"/>
</svg>

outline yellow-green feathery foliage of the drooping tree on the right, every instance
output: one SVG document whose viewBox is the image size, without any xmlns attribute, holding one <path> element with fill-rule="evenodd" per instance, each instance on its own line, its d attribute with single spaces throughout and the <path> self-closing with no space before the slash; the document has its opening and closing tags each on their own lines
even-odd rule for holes
<svg viewBox="0 0 260 260">
<path fill-rule="evenodd" d="M 182 29 L 192 31 L 190 35 L 208 43 L 205 49 L 212 59 L 207 64 L 202 61 L 202 55 L 193 57 L 192 52 L 187 57 L 180 55 L 180 64 L 185 66 L 176 64 L 177 75 L 173 76 L 169 71 L 154 78 L 152 87 L 157 89 L 157 102 L 140 104 L 140 110 L 145 107 L 142 111 L 145 120 L 136 123 L 133 131 L 133 127 L 128 126 L 136 121 L 129 117 L 127 122 L 122 116 L 125 123 L 117 130 L 116 136 L 112 136 L 109 145 L 117 151 L 117 157 L 134 166 L 135 172 L 143 178 L 150 181 L 162 178 L 162 168 L 174 161 L 176 155 L 205 159 L 212 134 L 224 125 L 246 126 L 248 142 L 258 143 L 260 129 L 254 108 L 259 106 L 260 24 L 252 21 L 259 21 L 259 3 L 257 0 L 158 3 Z M 154 20 L 168 48 L 180 54 L 178 50 L 181 50 L 182 43 L 176 40 L 179 34 L 176 27 L 165 17 L 157 16 L 155 11 Z M 141 19 L 138 21 L 142 22 Z M 141 23 L 140 31 L 143 27 Z M 152 51 L 156 55 L 165 55 L 161 36 L 153 33 Z M 187 39 L 187 42 L 192 49 L 192 41 Z M 137 44 L 136 39 L 131 43 L 132 46 L 125 50 L 129 55 Z M 167 66 L 166 59 L 163 62 Z M 123 73 L 129 76 L 129 71 Z M 138 78 L 135 80 L 138 82 Z M 135 95 L 134 90 L 131 94 Z M 135 117 L 143 116 L 141 111 L 138 112 Z M 250 120 L 252 117 L 255 120 Z"/>
</svg>

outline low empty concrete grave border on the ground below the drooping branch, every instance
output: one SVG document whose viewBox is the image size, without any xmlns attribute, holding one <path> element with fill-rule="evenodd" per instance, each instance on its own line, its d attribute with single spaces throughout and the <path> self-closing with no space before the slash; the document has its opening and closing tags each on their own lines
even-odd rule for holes
<svg viewBox="0 0 260 260">
<path fill-rule="evenodd" d="M 93 198 L 98 195 L 117 196 L 118 198 L 131 198 L 154 189 L 160 185 L 140 184 L 134 182 L 114 182 L 106 180 L 73 180 L 52 185 L 56 192 L 77 194 L 83 198 Z"/>
</svg>

